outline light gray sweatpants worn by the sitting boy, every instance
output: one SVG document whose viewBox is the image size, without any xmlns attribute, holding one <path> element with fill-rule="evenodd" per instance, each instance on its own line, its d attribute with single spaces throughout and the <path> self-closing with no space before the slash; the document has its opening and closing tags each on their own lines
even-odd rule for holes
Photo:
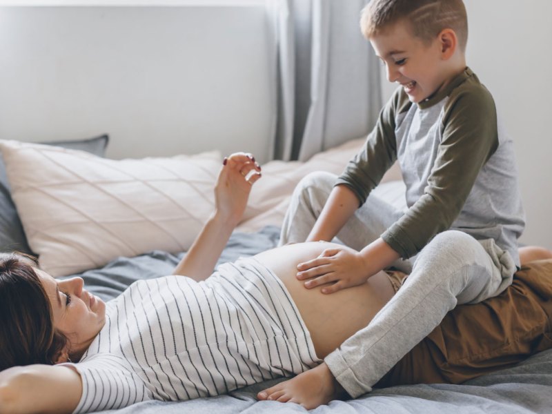
<svg viewBox="0 0 552 414">
<path fill-rule="evenodd" d="M 280 244 L 304 242 L 336 179 L 327 172 L 314 172 L 299 182 L 284 219 Z M 337 238 L 361 250 L 402 214 L 371 194 Z M 476 240 L 457 230 L 440 233 L 415 257 L 398 261 L 395 267 L 410 273 L 404 286 L 366 328 L 325 359 L 352 397 L 371 391 L 457 304 L 498 295 L 511 284 L 516 270 L 511 255 L 493 239 Z"/>
</svg>

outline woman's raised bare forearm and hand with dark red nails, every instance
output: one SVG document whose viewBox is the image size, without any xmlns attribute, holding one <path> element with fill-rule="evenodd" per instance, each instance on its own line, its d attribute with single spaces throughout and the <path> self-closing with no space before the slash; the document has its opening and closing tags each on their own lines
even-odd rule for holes
<svg viewBox="0 0 552 414">
<path fill-rule="evenodd" d="M 250 154 L 239 152 L 224 159 L 215 186 L 215 211 L 201 229 L 174 275 L 205 280 L 213 272 L 235 226 L 246 209 L 251 186 L 261 177 L 261 167 Z"/>
</svg>

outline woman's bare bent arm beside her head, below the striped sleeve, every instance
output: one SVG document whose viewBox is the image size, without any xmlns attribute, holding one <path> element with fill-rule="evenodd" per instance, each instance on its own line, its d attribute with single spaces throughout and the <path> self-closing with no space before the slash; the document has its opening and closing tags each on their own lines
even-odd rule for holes
<svg viewBox="0 0 552 414">
<path fill-rule="evenodd" d="M 82 395 L 70 366 L 14 366 L 0 372 L 1 413 L 72 413 Z"/>
</svg>

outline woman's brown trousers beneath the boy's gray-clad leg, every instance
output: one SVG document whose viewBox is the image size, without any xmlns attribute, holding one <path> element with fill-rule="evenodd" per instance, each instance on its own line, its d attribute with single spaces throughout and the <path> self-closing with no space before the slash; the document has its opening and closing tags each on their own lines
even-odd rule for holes
<svg viewBox="0 0 552 414">
<path fill-rule="evenodd" d="M 393 283 L 404 274 L 391 273 Z M 460 384 L 552 348 L 552 259 L 523 266 L 497 297 L 457 306 L 377 387 Z"/>
</svg>

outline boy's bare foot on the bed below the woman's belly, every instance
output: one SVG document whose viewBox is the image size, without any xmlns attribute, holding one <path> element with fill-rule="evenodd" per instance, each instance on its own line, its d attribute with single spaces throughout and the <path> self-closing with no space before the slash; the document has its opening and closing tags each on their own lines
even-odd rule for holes
<svg viewBox="0 0 552 414">
<path fill-rule="evenodd" d="M 346 393 L 325 363 L 257 394 L 259 400 L 295 402 L 307 410 L 328 404 Z"/>
</svg>

